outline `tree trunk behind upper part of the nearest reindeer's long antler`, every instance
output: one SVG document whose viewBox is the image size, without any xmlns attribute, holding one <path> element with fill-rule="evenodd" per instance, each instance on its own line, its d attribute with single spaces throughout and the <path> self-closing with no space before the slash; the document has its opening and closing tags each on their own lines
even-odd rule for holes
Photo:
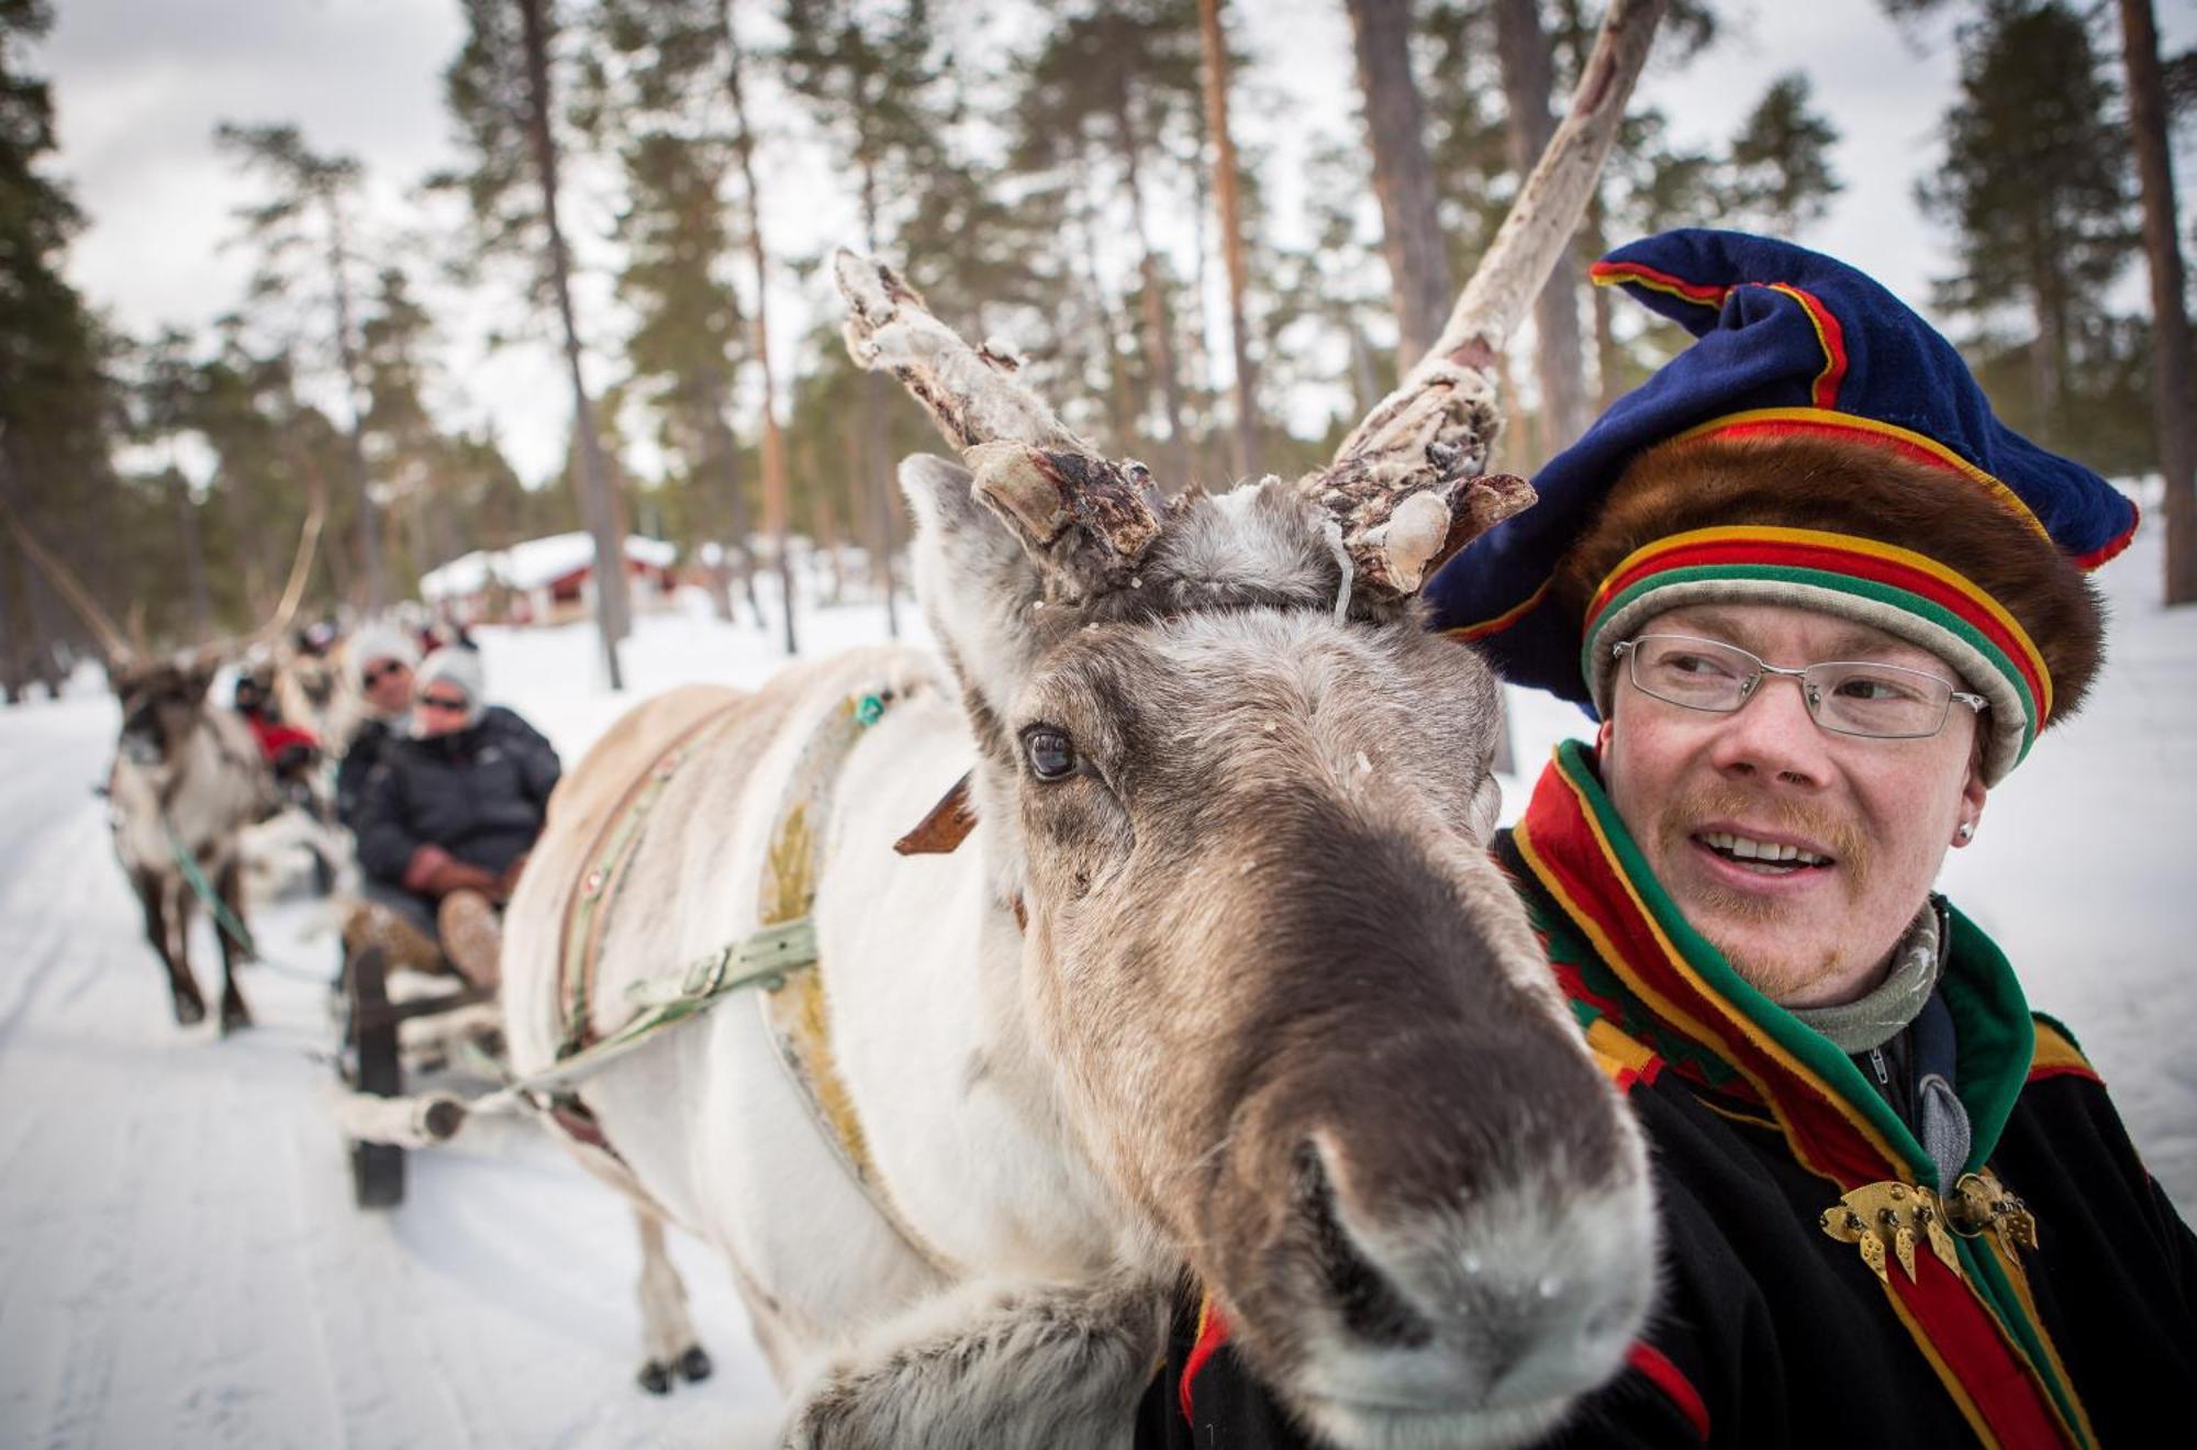
<svg viewBox="0 0 2197 1450">
<path fill-rule="evenodd" d="M 1555 116 L 1549 94 L 1555 90 L 1555 59 L 1547 31 L 1540 29 L 1538 0 L 1494 0 L 1496 59 L 1503 70 L 1503 97 L 1509 110 L 1505 136 L 1512 171 L 1518 180 L 1534 171 Z M 1549 459 L 1586 431 L 1586 360 L 1580 352 L 1580 264 L 1564 250 L 1549 272 L 1549 283 L 1534 299 L 1534 373 L 1540 380 L 1538 442 Z"/>
</svg>

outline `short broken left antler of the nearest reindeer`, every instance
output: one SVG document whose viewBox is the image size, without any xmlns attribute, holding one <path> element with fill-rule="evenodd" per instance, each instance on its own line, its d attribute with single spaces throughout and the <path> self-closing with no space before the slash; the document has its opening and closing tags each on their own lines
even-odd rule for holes
<svg viewBox="0 0 2197 1450">
<path fill-rule="evenodd" d="M 1160 536 L 1160 490 L 1134 459 L 1112 461 L 1015 380 L 1015 358 L 971 347 L 932 316 L 890 266 L 841 248 L 846 349 L 890 369 L 975 475 L 973 490 L 1033 556 L 1118 582 Z M 1077 527 L 1070 527 L 1077 525 Z"/>
</svg>

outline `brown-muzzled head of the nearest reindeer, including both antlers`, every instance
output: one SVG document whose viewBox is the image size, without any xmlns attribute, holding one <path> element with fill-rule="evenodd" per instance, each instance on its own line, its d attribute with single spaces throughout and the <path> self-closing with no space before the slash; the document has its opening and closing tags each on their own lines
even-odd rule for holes
<svg viewBox="0 0 2197 1450">
<path fill-rule="evenodd" d="M 1637 66 L 1659 9 L 1613 7 L 1597 62 Z M 1588 75 L 1615 125 L 1626 83 Z M 1061 1112 L 1151 1265 L 1191 1268 L 1345 1446 L 1544 1432 L 1654 1283 L 1639 1129 L 1485 855 L 1494 679 L 1413 598 L 1529 501 L 1479 468 L 1494 345 L 1577 215 L 1518 239 L 1560 211 L 1549 169 L 1331 468 L 1171 505 L 890 270 L 837 261 L 855 356 L 967 461 L 901 486 Z"/>
</svg>

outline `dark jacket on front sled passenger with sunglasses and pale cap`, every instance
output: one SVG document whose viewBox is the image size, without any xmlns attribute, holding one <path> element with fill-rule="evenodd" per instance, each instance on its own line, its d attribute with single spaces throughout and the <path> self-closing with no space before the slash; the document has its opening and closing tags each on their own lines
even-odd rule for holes
<svg viewBox="0 0 2197 1450">
<path fill-rule="evenodd" d="M 446 736 L 391 736 L 358 800 L 358 863 L 406 890 L 435 855 L 422 848 L 501 872 L 534 848 L 558 769 L 549 740 L 503 705 Z"/>
</svg>

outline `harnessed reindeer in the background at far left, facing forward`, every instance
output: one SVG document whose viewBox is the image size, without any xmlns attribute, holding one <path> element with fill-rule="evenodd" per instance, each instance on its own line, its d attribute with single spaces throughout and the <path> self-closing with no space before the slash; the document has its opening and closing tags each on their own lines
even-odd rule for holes
<svg viewBox="0 0 2197 1450">
<path fill-rule="evenodd" d="M 218 903 L 215 936 L 222 945 L 222 1035 L 250 1026 L 253 1013 L 237 989 L 235 967 L 248 942 L 244 927 L 242 848 L 246 826 L 275 806 L 275 780 L 250 727 L 207 699 L 228 659 L 242 659 L 264 639 L 279 637 L 297 613 L 321 538 L 321 501 L 305 518 L 290 582 L 275 617 L 242 639 L 200 646 L 171 657 L 152 655 L 127 639 L 77 576 L 7 512 L 24 554 L 92 631 L 108 666 L 108 685 L 121 705 L 121 736 L 103 793 L 114 830 L 114 857 L 145 914 L 145 938 L 167 969 L 176 1022 L 198 1024 L 207 1000 L 191 973 L 191 901 L 211 888 Z M 200 883 L 193 885 L 191 877 Z M 226 921 L 222 921 L 226 916 Z"/>
</svg>

